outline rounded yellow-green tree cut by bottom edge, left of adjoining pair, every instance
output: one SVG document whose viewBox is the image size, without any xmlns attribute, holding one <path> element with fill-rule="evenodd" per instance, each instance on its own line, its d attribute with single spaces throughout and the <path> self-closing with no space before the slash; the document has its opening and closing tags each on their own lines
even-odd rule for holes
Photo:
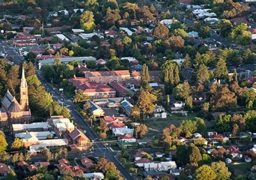
<svg viewBox="0 0 256 180">
<path fill-rule="evenodd" d="M 213 180 L 217 176 L 213 169 L 208 165 L 202 165 L 201 167 L 197 168 L 197 170 L 194 173 L 194 178 L 197 180 Z"/>
</svg>

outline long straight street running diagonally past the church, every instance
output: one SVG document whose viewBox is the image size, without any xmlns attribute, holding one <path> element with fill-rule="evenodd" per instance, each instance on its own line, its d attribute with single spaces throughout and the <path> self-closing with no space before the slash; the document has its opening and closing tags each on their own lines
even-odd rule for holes
<svg viewBox="0 0 256 180">
<path fill-rule="evenodd" d="M 9 56 L 14 57 L 14 64 L 19 65 L 23 62 L 23 58 L 21 56 L 19 56 L 19 54 L 15 51 L 14 48 L 12 48 L 10 46 L 6 46 L 3 41 L 0 41 L 0 51 L 4 52 L 4 49 Z M 79 124 L 81 129 L 86 130 L 85 135 L 91 140 L 91 142 L 95 142 L 95 143 L 93 143 L 94 157 L 105 156 L 105 158 L 107 158 L 107 160 L 113 162 L 114 165 L 116 165 L 117 170 L 120 171 L 121 174 L 127 180 L 132 180 L 133 177 L 129 174 L 129 172 L 127 172 L 127 170 L 123 167 L 123 165 L 120 164 L 119 161 L 117 161 L 117 159 L 114 157 L 116 155 L 116 153 L 109 151 L 104 146 L 104 144 L 98 139 L 97 135 L 89 127 L 89 124 L 87 124 L 87 122 L 84 121 L 83 117 L 77 112 L 74 103 L 71 100 L 65 99 L 64 96 L 59 95 L 57 93 L 56 89 L 53 89 L 48 82 L 45 82 L 43 80 L 42 75 L 38 70 L 36 70 L 36 74 L 37 74 L 38 79 L 41 81 L 42 85 L 45 87 L 45 89 L 48 92 L 53 94 L 53 96 L 55 98 L 57 98 L 58 101 L 62 101 L 63 103 L 68 105 L 67 108 L 69 108 L 69 110 L 70 110 L 70 113 L 73 117 L 73 121 L 76 122 L 77 124 Z"/>
</svg>

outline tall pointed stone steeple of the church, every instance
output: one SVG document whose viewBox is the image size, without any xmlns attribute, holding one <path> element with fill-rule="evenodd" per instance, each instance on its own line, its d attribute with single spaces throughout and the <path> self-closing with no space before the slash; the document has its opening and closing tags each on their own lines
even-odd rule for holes
<svg viewBox="0 0 256 180">
<path fill-rule="evenodd" d="M 24 67 L 22 67 L 20 94 L 21 94 L 21 99 L 19 102 L 22 107 L 22 110 L 28 111 L 29 110 L 28 84 L 26 83 Z"/>
</svg>

